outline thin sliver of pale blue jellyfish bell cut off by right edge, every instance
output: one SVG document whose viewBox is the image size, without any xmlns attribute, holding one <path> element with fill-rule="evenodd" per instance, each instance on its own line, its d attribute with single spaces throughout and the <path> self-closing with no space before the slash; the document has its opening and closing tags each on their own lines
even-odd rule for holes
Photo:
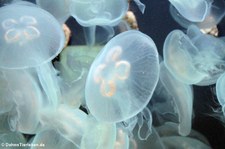
<svg viewBox="0 0 225 149">
<path fill-rule="evenodd" d="M 219 104 L 222 106 L 223 115 L 225 116 L 225 73 L 219 77 L 216 82 L 216 96 Z"/>
</svg>

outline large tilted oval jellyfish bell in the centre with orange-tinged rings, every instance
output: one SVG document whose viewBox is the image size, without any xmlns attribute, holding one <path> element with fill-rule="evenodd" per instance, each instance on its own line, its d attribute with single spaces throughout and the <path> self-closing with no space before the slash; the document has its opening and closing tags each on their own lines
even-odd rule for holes
<svg viewBox="0 0 225 149">
<path fill-rule="evenodd" d="M 159 77 L 152 39 L 139 31 L 115 36 L 92 63 L 85 87 L 90 112 L 98 120 L 120 122 L 148 104 Z"/>
</svg>

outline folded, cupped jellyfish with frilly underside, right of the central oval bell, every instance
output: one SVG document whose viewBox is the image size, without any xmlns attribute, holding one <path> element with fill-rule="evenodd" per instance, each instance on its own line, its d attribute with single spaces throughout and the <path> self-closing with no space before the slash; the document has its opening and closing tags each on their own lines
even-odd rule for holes
<svg viewBox="0 0 225 149">
<path fill-rule="evenodd" d="M 172 31 L 163 48 L 165 65 L 175 78 L 186 84 L 211 85 L 225 70 L 225 43 L 190 26 L 185 35 Z"/>
</svg>

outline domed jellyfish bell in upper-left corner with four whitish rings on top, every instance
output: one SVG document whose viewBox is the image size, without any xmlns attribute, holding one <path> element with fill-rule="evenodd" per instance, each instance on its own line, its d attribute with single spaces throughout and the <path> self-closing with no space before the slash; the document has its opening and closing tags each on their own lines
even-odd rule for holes
<svg viewBox="0 0 225 149">
<path fill-rule="evenodd" d="M 0 68 L 36 67 L 51 61 L 64 45 L 58 21 L 34 5 L 0 8 Z"/>
</svg>

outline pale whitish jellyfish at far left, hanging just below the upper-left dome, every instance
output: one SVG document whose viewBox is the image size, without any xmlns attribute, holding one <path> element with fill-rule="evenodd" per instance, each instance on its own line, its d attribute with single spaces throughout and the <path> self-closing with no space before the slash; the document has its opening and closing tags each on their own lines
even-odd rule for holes
<svg viewBox="0 0 225 149">
<path fill-rule="evenodd" d="M 39 127 L 39 110 L 43 103 L 36 80 L 27 71 L 8 70 L 4 75 L 10 90 L 8 100 L 14 102 L 8 118 L 10 129 L 26 134 L 36 133 Z"/>
</svg>

